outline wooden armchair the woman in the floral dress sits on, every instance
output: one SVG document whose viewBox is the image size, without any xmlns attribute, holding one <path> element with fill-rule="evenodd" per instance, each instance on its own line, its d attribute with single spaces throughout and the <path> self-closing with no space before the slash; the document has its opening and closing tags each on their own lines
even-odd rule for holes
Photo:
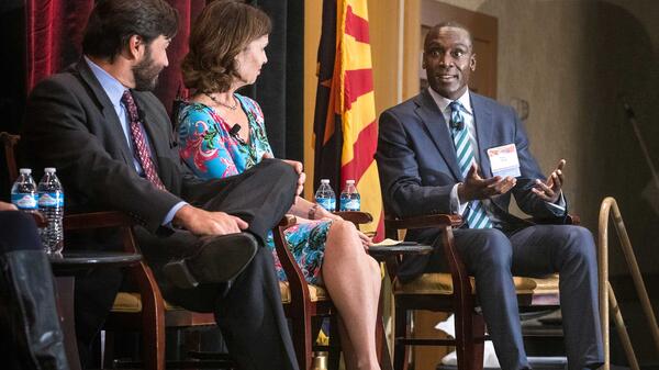
<svg viewBox="0 0 659 370">
<path fill-rule="evenodd" d="M 344 220 L 353 222 L 356 226 L 372 222 L 370 214 L 365 212 L 336 212 Z M 320 329 L 320 319 L 331 317 L 336 319 L 336 309 L 332 303 L 324 288 L 308 284 L 300 267 L 295 262 L 291 251 L 286 246 L 283 232 L 295 224 L 295 217 L 284 217 L 275 231 L 275 245 L 277 256 L 286 272 L 288 281 L 284 282 L 287 289 L 282 289 L 282 303 L 287 317 L 291 319 L 292 339 L 300 369 L 311 369 L 312 356 L 314 349 L 326 349 L 321 346 L 314 346 Z M 290 299 L 289 299 L 290 294 Z M 378 309 L 378 324 L 376 337 L 378 339 L 378 356 L 382 359 L 384 341 L 384 330 L 381 319 L 381 307 Z M 335 327 L 335 325 L 332 325 Z M 336 355 L 337 332 L 332 330 L 331 355 Z M 337 357 L 335 357 L 337 359 Z M 388 360 L 388 359 L 387 359 Z M 380 361 L 382 362 L 382 360 Z"/>
</svg>

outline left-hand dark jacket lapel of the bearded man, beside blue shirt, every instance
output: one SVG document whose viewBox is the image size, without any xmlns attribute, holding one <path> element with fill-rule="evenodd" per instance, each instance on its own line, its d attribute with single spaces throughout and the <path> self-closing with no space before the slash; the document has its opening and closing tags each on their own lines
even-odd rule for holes
<svg viewBox="0 0 659 370">
<path fill-rule="evenodd" d="M 112 141 L 119 145 L 121 148 L 121 154 L 126 164 L 133 166 L 133 155 L 129 148 L 129 144 L 126 143 L 126 136 L 124 135 L 123 128 L 121 127 L 121 122 L 116 116 L 116 111 L 108 98 L 105 90 L 97 80 L 96 76 L 87 65 L 85 60 L 80 60 L 76 66 L 76 69 L 80 72 L 80 78 L 89 86 L 91 92 L 96 96 L 98 102 L 101 105 L 101 112 L 105 122 L 108 123 L 108 132 L 112 136 Z"/>
</svg>

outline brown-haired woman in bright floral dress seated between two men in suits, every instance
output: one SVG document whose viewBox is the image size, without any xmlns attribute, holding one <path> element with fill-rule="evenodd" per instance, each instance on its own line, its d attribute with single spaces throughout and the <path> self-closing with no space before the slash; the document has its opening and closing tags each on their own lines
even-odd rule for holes
<svg viewBox="0 0 659 370">
<path fill-rule="evenodd" d="M 177 130 L 181 158 L 202 178 L 237 175 L 272 157 L 259 105 L 235 92 L 254 83 L 267 63 L 270 29 L 268 15 L 236 1 L 210 3 L 192 27 L 182 71 L 193 94 L 178 113 Z M 289 162 L 301 172 L 300 162 Z M 381 276 L 379 265 L 365 251 L 370 239 L 302 198 L 289 213 L 298 224 L 287 229 L 287 245 L 306 281 L 324 285 L 338 310 L 347 368 L 379 369 L 376 318 Z M 268 246 L 273 249 L 271 238 Z M 275 260 L 279 278 L 286 280 Z"/>
</svg>

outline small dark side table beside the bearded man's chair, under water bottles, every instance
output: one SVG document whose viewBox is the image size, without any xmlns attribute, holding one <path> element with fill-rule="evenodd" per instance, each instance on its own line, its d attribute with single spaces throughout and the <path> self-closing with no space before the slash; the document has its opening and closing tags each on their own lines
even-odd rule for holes
<svg viewBox="0 0 659 370">
<path fill-rule="evenodd" d="M 74 312 L 74 291 L 76 274 L 97 267 L 125 267 L 137 264 L 142 255 L 120 251 L 65 251 L 63 255 L 52 255 L 51 268 L 57 284 L 56 300 L 59 311 L 66 356 L 71 370 L 80 370 L 80 356 L 76 339 L 76 321 Z"/>
</svg>

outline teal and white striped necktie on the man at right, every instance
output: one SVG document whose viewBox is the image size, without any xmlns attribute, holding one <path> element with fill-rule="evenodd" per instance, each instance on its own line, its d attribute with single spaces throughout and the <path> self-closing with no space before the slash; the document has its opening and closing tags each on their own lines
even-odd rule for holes
<svg viewBox="0 0 659 370">
<path fill-rule="evenodd" d="M 469 139 L 469 128 L 465 127 L 465 116 L 462 116 L 462 104 L 458 101 L 453 101 L 450 106 L 450 132 L 456 146 L 456 156 L 460 166 L 460 173 L 467 177 L 471 164 L 476 160 L 473 157 L 473 148 Z M 467 220 L 469 228 L 491 228 L 492 222 L 488 217 L 488 213 L 480 200 L 469 202 L 467 211 L 462 215 Z"/>
</svg>

